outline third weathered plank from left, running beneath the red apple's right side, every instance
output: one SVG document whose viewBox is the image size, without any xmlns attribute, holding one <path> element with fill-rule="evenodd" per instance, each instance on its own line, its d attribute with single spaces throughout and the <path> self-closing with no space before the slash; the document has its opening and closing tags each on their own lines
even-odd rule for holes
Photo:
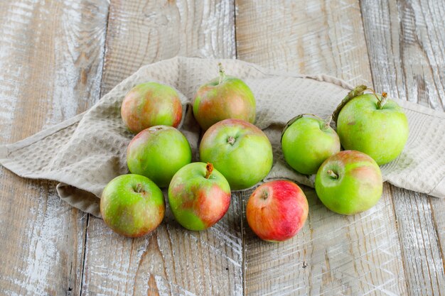
<svg viewBox="0 0 445 296">
<path fill-rule="evenodd" d="M 239 58 L 267 67 L 336 75 L 353 84 L 370 83 L 358 1 L 236 4 Z M 294 239 L 264 243 L 243 228 L 245 293 L 406 293 L 389 186 L 384 186 L 376 207 L 355 216 L 330 212 L 313 190 L 305 192 L 309 219 Z"/>
</svg>

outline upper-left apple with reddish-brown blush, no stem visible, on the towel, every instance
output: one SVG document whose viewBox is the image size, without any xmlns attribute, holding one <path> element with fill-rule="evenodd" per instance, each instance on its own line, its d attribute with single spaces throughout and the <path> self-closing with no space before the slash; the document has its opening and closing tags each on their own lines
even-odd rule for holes
<svg viewBox="0 0 445 296">
<path fill-rule="evenodd" d="M 182 104 L 172 87 L 146 82 L 133 87 L 124 97 L 121 116 L 132 133 L 151 126 L 177 127 L 182 118 Z"/>
</svg>

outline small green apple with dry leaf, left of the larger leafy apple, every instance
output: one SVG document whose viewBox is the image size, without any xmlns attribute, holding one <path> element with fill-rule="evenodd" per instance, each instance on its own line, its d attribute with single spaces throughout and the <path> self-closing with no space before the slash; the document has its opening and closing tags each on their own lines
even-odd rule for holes
<svg viewBox="0 0 445 296">
<path fill-rule="evenodd" d="M 340 139 L 330 123 L 331 117 L 323 121 L 313 114 L 301 114 L 287 123 L 282 150 L 291 168 L 304 175 L 315 174 L 326 158 L 340 151 Z"/>
</svg>

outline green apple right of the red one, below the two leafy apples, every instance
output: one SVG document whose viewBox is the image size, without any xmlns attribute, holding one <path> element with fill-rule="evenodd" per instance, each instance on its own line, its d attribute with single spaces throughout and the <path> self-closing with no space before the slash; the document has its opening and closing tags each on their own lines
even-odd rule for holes
<svg viewBox="0 0 445 296">
<path fill-rule="evenodd" d="M 330 175 L 331 170 L 338 177 Z M 326 159 L 318 169 L 318 198 L 338 214 L 357 214 L 373 207 L 382 196 L 382 173 L 370 156 L 345 150 Z"/>
</svg>

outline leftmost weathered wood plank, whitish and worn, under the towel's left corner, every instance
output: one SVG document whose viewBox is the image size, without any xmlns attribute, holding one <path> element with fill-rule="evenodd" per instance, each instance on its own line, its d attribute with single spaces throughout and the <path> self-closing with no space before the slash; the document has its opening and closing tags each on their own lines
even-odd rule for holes
<svg viewBox="0 0 445 296">
<path fill-rule="evenodd" d="M 99 97 L 107 1 L 1 1 L 0 142 L 68 119 Z M 55 183 L 0 168 L 0 290 L 78 294 L 86 215 Z"/>
</svg>

